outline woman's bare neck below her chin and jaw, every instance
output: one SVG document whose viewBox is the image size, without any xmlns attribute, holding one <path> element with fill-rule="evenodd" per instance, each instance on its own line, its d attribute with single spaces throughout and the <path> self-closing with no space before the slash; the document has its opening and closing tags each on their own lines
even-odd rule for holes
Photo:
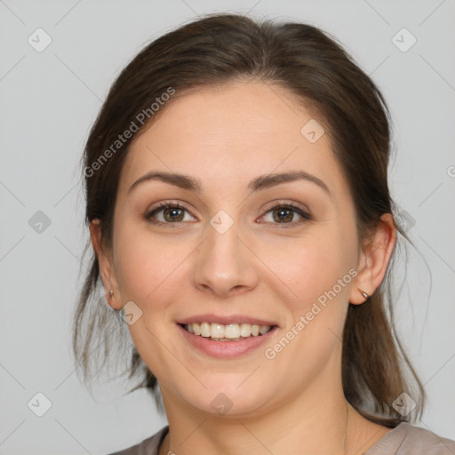
<svg viewBox="0 0 455 455">
<path fill-rule="evenodd" d="M 279 408 L 254 416 L 181 412 L 181 408 L 166 403 L 165 395 L 170 432 L 160 455 L 169 451 L 188 455 L 195 452 L 195 447 L 201 455 L 254 455 L 267 451 L 344 455 L 352 445 L 349 427 L 356 412 L 347 405 L 341 387 L 324 393 L 308 388 L 304 395 L 292 397 Z"/>
</svg>

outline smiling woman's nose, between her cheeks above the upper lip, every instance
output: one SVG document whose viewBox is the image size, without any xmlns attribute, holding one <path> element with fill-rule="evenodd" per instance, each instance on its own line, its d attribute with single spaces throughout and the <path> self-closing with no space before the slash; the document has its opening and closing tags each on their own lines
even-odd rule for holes
<svg viewBox="0 0 455 455">
<path fill-rule="evenodd" d="M 224 233 L 208 224 L 206 231 L 205 241 L 195 251 L 196 288 L 221 298 L 254 289 L 259 281 L 259 259 L 247 239 L 239 236 L 236 224 Z"/>
</svg>

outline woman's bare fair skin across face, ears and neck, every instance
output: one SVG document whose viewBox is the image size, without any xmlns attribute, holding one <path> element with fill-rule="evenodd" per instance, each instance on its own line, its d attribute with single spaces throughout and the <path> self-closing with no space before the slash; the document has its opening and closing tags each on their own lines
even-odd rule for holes
<svg viewBox="0 0 455 455">
<path fill-rule="evenodd" d="M 114 291 L 109 304 L 120 309 L 132 301 L 142 311 L 129 329 L 164 398 L 170 433 L 160 455 L 341 454 L 347 410 L 349 454 L 363 453 L 389 430 L 347 407 L 340 368 L 348 304 L 365 301 L 357 287 L 371 295 L 382 282 L 395 228 L 384 215 L 374 243 L 359 247 L 352 197 L 328 134 L 311 143 L 300 132 L 312 118 L 291 93 L 259 82 L 176 98 L 132 144 L 110 245 L 102 246 L 100 224 L 91 223 L 102 281 Z M 188 175 L 201 191 L 161 180 L 130 190 L 151 171 Z M 323 180 L 330 194 L 308 180 L 249 194 L 251 180 L 295 171 Z M 160 202 L 184 206 L 173 212 L 178 222 L 165 210 L 144 218 Z M 291 203 L 312 220 L 295 209 L 283 218 L 272 210 Z M 234 222 L 223 234 L 210 223 L 220 210 Z M 350 269 L 355 277 L 267 358 L 266 349 Z M 257 317 L 276 328 L 260 347 L 218 358 L 189 343 L 179 325 L 209 313 Z M 231 406 L 223 415 L 211 404 L 220 393 Z"/>
</svg>

